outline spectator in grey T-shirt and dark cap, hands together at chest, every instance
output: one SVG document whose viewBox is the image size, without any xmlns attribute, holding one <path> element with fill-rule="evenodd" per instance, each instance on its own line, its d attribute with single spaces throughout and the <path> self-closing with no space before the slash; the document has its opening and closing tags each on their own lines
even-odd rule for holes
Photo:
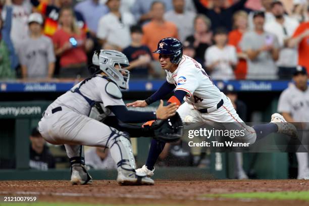
<svg viewBox="0 0 309 206">
<path fill-rule="evenodd" d="M 277 37 L 264 31 L 265 14 L 255 12 L 254 30 L 244 33 L 241 49 L 248 55 L 247 79 L 277 79 L 275 61 L 279 58 Z"/>
</svg>

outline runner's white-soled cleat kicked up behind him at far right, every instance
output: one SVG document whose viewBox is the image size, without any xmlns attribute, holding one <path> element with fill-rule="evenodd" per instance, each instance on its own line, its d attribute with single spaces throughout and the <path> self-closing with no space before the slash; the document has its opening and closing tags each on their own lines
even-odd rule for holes
<svg viewBox="0 0 309 206">
<path fill-rule="evenodd" d="M 286 122 L 282 115 L 278 113 L 273 114 L 271 123 L 278 126 L 278 133 L 288 135 L 293 139 L 297 138 L 296 127 L 293 124 Z"/>
</svg>

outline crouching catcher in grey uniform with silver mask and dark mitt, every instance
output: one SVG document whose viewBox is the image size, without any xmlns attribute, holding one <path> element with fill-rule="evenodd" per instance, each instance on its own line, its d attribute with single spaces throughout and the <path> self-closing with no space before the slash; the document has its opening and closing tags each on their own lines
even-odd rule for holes
<svg viewBox="0 0 309 206">
<path fill-rule="evenodd" d="M 156 112 L 127 110 L 120 88 L 128 88 L 130 72 L 123 68 L 128 65 L 127 57 L 121 52 L 96 51 L 90 66 L 93 75 L 58 97 L 47 107 L 38 123 L 39 132 L 46 141 L 65 145 L 71 163 L 72 184 L 92 182 L 84 166 L 82 145 L 88 145 L 110 148 L 117 163 L 119 184 L 153 185 L 152 179 L 135 172 L 129 135 L 157 136 L 159 140 L 174 141 L 182 133 L 179 115 L 175 116 L 176 104 L 164 107 L 161 100 Z M 89 117 L 91 110 L 95 110 L 96 117 L 102 122 Z M 160 122 L 144 128 L 123 124 L 149 120 Z"/>
</svg>

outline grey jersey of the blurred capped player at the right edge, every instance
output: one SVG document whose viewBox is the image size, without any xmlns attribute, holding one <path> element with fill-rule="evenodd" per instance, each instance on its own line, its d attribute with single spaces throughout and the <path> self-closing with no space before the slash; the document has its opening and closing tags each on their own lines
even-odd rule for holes
<svg viewBox="0 0 309 206">
<path fill-rule="evenodd" d="M 299 90 L 295 85 L 285 89 L 279 98 L 278 112 L 289 113 L 296 122 L 309 122 L 309 89 Z"/>
</svg>

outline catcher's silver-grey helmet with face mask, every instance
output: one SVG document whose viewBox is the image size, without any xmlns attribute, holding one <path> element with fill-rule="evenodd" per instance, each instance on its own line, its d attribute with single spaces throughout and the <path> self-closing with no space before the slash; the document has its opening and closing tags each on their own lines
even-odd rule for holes
<svg viewBox="0 0 309 206">
<path fill-rule="evenodd" d="M 130 71 L 123 69 L 129 66 L 128 58 L 116 50 L 96 50 L 92 56 L 90 73 L 104 72 L 122 89 L 129 88 Z"/>
</svg>

